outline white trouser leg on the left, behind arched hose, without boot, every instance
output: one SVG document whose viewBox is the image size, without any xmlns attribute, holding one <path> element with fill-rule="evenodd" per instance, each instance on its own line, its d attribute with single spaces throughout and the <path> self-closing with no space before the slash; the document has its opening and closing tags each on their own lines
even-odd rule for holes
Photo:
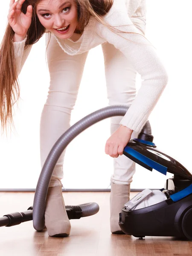
<svg viewBox="0 0 192 256">
<path fill-rule="evenodd" d="M 47 48 L 50 85 L 40 125 L 41 167 L 56 140 L 70 127 L 71 111 L 76 102 L 86 58 L 87 52 L 68 55 L 51 36 Z M 58 180 L 63 178 L 63 162 L 64 153 L 55 166 L 49 187 L 61 184 Z"/>
</svg>

